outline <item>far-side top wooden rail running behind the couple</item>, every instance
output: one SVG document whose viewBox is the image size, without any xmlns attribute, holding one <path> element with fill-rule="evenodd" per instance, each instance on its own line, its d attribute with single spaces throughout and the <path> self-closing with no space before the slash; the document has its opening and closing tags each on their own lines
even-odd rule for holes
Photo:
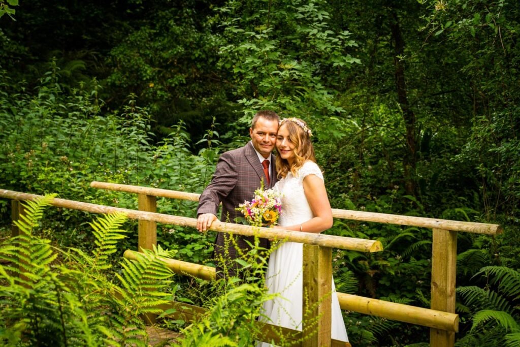
<svg viewBox="0 0 520 347">
<path fill-rule="evenodd" d="M 90 187 L 125 191 L 137 194 L 146 194 L 151 196 L 184 199 L 191 201 L 199 201 L 200 194 L 187 193 L 183 191 L 139 187 L 126 184 L 106 183 L 94 181 L 90 183 Z M 502 233 L 502 227 L 498 224 L 474 223 L 449 221 L 436 218 L 403 216 L 398 214 L 363 212 L 352 210 L 332 209 L 332 216 L 336 218 L 349 219 L 354 221 L 398 224 L 407 226 L 417 226 L 423 228 L 435 228 L 443 230 L 451 230 L 458 232 L 467 232 L 475 234 L 491 234 L 497 235 Z"/>
</svg>

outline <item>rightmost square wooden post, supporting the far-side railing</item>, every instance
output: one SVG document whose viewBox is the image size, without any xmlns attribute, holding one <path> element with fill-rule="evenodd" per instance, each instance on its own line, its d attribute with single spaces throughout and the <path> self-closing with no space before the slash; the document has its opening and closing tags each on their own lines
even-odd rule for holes
<svg viewBox="0 0 520 347">
<path fill-rule="evenodd" d="M 455 312 L 457 275 L 457 232 L 433 229 L 431 308 Z M 455 332 L 430 329 L 432 347 L 453 347 Z"/>
</svg>

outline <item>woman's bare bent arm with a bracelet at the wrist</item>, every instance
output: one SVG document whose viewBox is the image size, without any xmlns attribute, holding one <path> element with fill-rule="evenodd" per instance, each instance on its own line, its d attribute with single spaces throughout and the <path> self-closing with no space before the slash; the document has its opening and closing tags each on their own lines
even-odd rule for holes
<svg viewBox="0 0 520 347">
<path fill-rule="evenodd" d="M 303 190 L 310 209 L 313 210 L 314 218 L 302 224 L 281 228 L 307 233 L 321 233 L 323 230 L 327 230 L 332 226 L 332 210 L 323 180 L 316 175 L 307 175 L 303 179 Z"/>
</svg>

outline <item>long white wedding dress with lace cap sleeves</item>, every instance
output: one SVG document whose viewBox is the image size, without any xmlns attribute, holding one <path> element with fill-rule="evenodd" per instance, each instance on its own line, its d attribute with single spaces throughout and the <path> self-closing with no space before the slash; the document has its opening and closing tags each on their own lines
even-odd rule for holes
<svg viewBox="0 0 520 347">
<path fill-rule="evenodd" d="M 282 194 L 282 214 L 280 226 L 302 224 L 314 217 L 303 190 L 303 179 L 307 175 L 323 179 L 318 165 L 312 161 L 304 163 L 297 177 L 288 173 L 278 181 L 274 189 Z M 266 273 L 266 286 L 270 293 L 280 293 L 281 297 L 263 304 L 260 320 L 266 323 L 302 330 L 302 285 L 303 285 L 303 244 L 285 242 L 269 256 Z M 331 278 L 332 280 L 332 278 Z M 348 341 L 345 323 L 337 300 L 332 280 L 332 338 Z M 269 347 L 270 343 L 259 342 L 257 347 Z"/>
</svg>

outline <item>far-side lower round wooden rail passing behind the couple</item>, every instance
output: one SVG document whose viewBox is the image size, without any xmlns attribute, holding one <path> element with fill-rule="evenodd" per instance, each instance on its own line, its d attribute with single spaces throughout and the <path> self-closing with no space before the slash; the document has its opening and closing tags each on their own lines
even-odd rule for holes
<svg viewBox="0 0 520 347">
<path fill-rule="evenodd" d="M 136 251 L 126 250 L 123 256 L 127 259 L 136 260 L 138 254 Z M 215 279 L 214 267 L 170 258 L 160 259 L 176 274 L 191 275 L 206 280 Z M 337 298 L 340 301 L 342 310 L 359 312 L 441 330 L 459 331 L 459 315 L 454 313 L 424 309 L 423 307 L 397 304 L 345 293 L 337 293 Z"/>
</svg>

